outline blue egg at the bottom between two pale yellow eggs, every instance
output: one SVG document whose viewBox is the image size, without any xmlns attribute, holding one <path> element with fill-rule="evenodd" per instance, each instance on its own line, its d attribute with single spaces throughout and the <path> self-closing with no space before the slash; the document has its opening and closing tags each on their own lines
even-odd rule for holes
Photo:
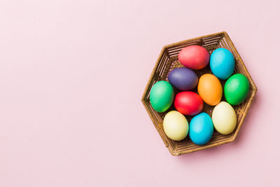
<svg viewBox="0 0 280 187">
<path fill-rule="evenodd" d="M 214 125 L 207 113 L 199 113 L 190 121 L 190 139 L 197 145 L 206 144 L 213 136 Z"/>
</svg>

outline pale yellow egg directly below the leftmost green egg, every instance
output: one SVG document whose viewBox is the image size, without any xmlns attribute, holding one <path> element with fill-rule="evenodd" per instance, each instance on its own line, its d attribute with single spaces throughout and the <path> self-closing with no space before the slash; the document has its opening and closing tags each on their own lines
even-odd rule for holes
<svg viewBox="0 0 280 187">
<path fill-rule="evenodd" d="M 188 134 L 188 120 L 178 111 L 169 111 L 163 119 L 163 130 L 170 139 L 180 141 Z"/>
</svg>

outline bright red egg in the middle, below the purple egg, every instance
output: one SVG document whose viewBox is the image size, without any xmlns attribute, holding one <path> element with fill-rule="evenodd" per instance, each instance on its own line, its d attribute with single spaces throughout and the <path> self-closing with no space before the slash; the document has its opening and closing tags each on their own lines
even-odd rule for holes
<svg viewBox="0 0 280 187">
<path fill-rule="evenodd" d="M 179 92 L 174 99 L 175 109 L 184 115 L 194 116 L 203 109 L 203 101 L 195 92 Z"/>
</svg>

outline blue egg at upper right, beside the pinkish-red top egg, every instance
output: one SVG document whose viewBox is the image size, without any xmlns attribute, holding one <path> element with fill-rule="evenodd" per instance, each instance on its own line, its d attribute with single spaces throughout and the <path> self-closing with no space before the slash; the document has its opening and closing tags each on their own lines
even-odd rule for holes
<svg viewBox="0 0 280 187">
<path fill-rule="evenodd" d="M 214 76 L 225 80 L 235 70 L 235 57 L 233 57 L 230 50 L 218 48 L 211 54 L 210 68 Z"/>
</svg>

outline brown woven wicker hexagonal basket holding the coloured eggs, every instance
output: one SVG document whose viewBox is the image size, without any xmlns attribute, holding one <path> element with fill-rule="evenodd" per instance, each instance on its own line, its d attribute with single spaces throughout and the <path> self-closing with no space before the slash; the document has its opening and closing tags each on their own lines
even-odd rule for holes
<svg viewBox="0 0 280 187">
<path fill-rule="evenodd" d="M 237 127 L 235 128 L 235 130 L 228 135 L 220 134 L 216 132 L 216 130 L 214 130 L 212 139 L 203 146 L 198 146 L 194 144 L 190 140 L 189 136 L 187 136 L 185 139 L 181 141 L 173 141 L 172 139 L 169 139 L 165 134 L 165 132 L 163 131 L 162 122 L 167 112 L 175 110 L 173 104 L 167 111 L 163 113 L 158 113 L 152 108 L 150 103 L 150 92 L 153 85 L 158 81 L 168 81 L 167 76 L 169 72 L 172 71 L 172 69 L 176 67 L 183 67 L 183 65 L 178 60 L 178 54 L 182 48 L 191 45 L 203 46 L 208 50 L 210 55 L 216 48 L 226 48 L 230 50 L 232 55 L 234 55 L 235 57 L 234 74 L 244 74 L 244 76 L 248 78 L 248 81 L 250 83 L 250 90 L 248 93 L 248 97 L 246 97 L 246 100 L 237 106 L 233 106 L 235 112 L 237 113 Z M 195 71 L 195 73 L 199 78 L 203 74 L 207 74 L 207 73 L 211 74 L 211 69 L 209 67 L 209 64 L 204 69 Z M 222 80 L 220 81 L 222 85 L 225 85 L 225 81 Z M 178 90 L 176 89 L 174 90 L 176 94 Z M 195 88 L 195 90 L 193 91 L 197 92 L 197 88 Z M 226 32 L 219 32 L 216 34 L 209 34 L 207 36 L 201 36 L 195 39 L 180 41 L 177 43 L 172 43 L 170 45 L 164 46 L 160 52 L 158 61 L 156 62 L 152 74 L 148 80 L 146 89 L 141 98 L 141 102 L 144 104 L 148 115 L 153 121 L 155 128 L 158 130 L 160 137 L 165 143 L 165 146 L 167 146 L 167 148 L 169 149 L 170 153 L 172 153 L 172 155 L 183 155 L 186 153 L 192 153 L 195 151 L 200 151 L 206 148 L 211 148 L 214 146 L 219 146 L 222 144 L 227 144 L 232 141 L 235 141 L 237 134 L 240 130 L 240 127 L 244 121 L 244 118 L 248 112 L 248 109 L 250 108 L 253 98 L 255 97 L 256 92 L 257 92 L 257 87 L 255 86 L 255 83 L 253 82 L 250 74 L 248 73 L 248 70 L 246 69 L 244 62 L 241 60 L 241 57 L 239 56 L 239 53 L 237 52 L 235 46 L 230 40 L 230 37 Z M 222 98 L 222 101 L 225 101 L 224 97 Z M 209 106 L 204 103 L 203 111 L 208 113 L 210 116 L 212 114 L 213 109 L 214 106 Z M 186 118 L 190 123 L 192 116 L 186 116 Z"/>
</svg>

